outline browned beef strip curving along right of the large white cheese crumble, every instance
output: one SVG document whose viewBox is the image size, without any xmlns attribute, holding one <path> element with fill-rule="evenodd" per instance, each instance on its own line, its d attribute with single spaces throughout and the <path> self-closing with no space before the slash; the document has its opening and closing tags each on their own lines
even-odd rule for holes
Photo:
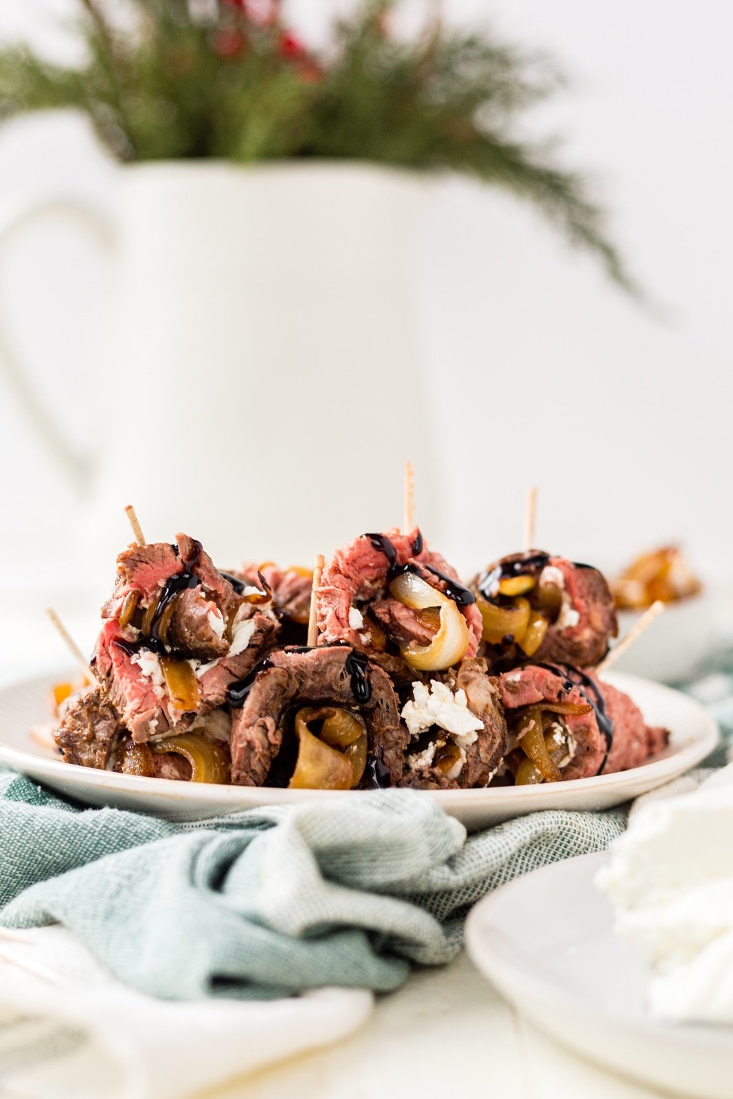
<svg viewBox="0 0 733 1099">
<path fill-rule="evenodd" d="M 499 700 L 498 681 L 487 675 L 486 660 L 464 660 L 457 675 L 448 678 L 451 690 L 464 690 L 468 709 L 480 718 L 484 729 L 466 750 L 466 762 L 456 778 L 447 778 L 437 767 L 422 767 L 406 774 L 404 786 L 421 789 L 468 789 L 484 787 L 499 766 L 507 750 L 507 721 Z"/>
</svg>

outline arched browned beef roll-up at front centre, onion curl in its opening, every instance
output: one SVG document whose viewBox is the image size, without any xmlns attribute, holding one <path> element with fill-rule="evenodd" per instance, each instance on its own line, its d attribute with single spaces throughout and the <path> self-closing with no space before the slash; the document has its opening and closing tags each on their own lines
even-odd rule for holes
<svg viewBox="0 0 733 1099">
<path fill-rule="evenodd" d="M 347 645 L 271 652 L 229 691 L 232 781 L 396 786 L 409 735 L 387 674 Z"/>
</svg>

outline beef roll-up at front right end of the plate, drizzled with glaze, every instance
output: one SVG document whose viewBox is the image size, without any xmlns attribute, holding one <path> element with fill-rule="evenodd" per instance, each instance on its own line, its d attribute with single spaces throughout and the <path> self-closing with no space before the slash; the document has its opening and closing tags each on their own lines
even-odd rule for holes
<svg viewBox="0 0 733 1099">
<path fill-rule="evenodd" d="M 502 673 L 499 692 L 509 728 L 502 769 L 518 786 L 624 770 L 667 743 L 626 695 L 578 668 L 527 664 Z"/>
</svg>

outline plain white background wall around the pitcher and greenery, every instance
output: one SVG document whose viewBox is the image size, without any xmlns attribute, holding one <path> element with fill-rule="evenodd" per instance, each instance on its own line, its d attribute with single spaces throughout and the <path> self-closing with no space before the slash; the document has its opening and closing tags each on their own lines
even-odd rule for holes
<svg viewBox="0 0 733 1099">
<path fill-rule="evenodd" d="M 411 7 L 414 14 L 421 5 Z M 54 18 L 71 8 L 4 0 L 0 35 L 65 48 Z M 291 5 L 310 34 L 324 8 Z M 604 564 L 675 539 L 703 570 L 724 575 L 733 534 L 733 8 L 454 0 L 446 11 L 490 21 L 562 63 L 571 87 L 531 124 L 566 137 L 566 163 L 590 169 L 612 234 L 659 308 L 624 297 L 519 201 L 459 179 L 441 185 L 415 265 L 449 499 L 449 522 L 433 542 L 467 566 L 514 548 L 535 481 L 538 541 L 557 552 Z M 114 166 L 74 116 L 0 130 L 1 203 L 48 185 L 109 202 L 113 179 Z M 89 362 L 103 297 L 101 260 L 69 230 L 35 230 L 0 270 L 3 323 L 80 448 L 85 371 L 104 369 Z M 42 575 L 84 585 L 82 504 L 2 377 L 0 402 L 0 582 L 18 591 Z M 124 413 L 121 400 L 111 431 Z"/>
</svg>

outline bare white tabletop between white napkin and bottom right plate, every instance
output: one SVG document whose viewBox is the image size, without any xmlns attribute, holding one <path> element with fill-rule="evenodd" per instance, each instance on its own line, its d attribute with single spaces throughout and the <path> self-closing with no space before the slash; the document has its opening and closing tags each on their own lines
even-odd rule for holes
<svg viewBox="0 0 733 1099">
<path fill-rule="evenodd" d="M 566 1053 L 524 1022 L 465 954 L 422 969 L 380 998 L 367 1025 L 336 1046 L 207 1094 L 207 1099 L 651 1099 Z"/>
</svg>

